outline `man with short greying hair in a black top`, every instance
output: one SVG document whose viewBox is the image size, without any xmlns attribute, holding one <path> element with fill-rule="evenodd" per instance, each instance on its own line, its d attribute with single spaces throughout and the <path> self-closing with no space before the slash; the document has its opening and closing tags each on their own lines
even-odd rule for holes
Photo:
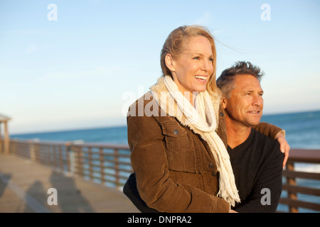
<svg viewBox="0 0 320 227">
<path fill-rule="evenodd" d="M 235 184 L 241 202 L 238 212 L 274 212 L 282 192 L 283 153 L 279 143 L 252 129 L 263 109 L 262 72 L 250 62 L 237 62 L 217 79 Z"/>
</svg>

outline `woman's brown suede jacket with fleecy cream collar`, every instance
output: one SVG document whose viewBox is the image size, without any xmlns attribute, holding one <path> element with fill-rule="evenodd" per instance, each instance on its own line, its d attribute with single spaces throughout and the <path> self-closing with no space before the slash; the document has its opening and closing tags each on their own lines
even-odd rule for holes
<svg viewBox="0 0 320 227">
<path fill-rule="evenodd" d="M 208 143 L 175 117 L 161 114 L 155 103 L 152 97 L 138 99 L 127 116 L 139 196 L 149 208 L 160 212 L 229 212 L 228 201 L 216 196 L 219 172 Z M 159 114 L 138 116 L 139 109 L 148 105 Z M 216 131 L 227 145 L 221 106 L 218 117 Z M 282 132 L 269 123 L 260 123 L 255 129 L 271 138 Z"/>
</svg>

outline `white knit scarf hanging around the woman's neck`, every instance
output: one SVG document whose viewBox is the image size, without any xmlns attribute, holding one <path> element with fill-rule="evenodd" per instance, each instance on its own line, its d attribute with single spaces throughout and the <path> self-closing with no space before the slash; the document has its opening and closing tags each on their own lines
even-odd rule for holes
<svg viewBox="0 0 320 227">
<path fill-rule="evenodd" d="M 162 83 L 165 86 L 162 86 Z M 240 197 L 235 186 L 235 177 L 228 151 L 215 132 L 217 128 L 215 109 L 208 92 L 198 92 L 195 98 L 195 109 L 188 99 L 179 92 L 178 86 L 170 76 L 158 79 L 158 83 L 150 87 L 150 91 L 163 111 L 166 111 L 170 116 L 175 116 L 182 125 L 189 126 L 193 131 L 200 134 L 203 140 L 206 140 L 220 173 L 218 196 L 235 206 L 235 201 L 240 202 Z M 178 110 L 169 106 L 168 100 L 170 99 L 174 99 L 174 106 L 177 106 Z M 183 115 L 179 115 L 179 111 Z"/>
</svg>

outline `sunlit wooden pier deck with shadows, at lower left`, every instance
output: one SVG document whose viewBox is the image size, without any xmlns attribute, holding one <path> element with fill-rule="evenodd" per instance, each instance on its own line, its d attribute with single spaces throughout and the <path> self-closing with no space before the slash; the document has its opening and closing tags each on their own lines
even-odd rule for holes
<svg viewBox="0 0 320 227">
<path fill-rule="evenodd" d="M 58 205 L 49 205 L 48 189 Z M 122 192 L 15 155 L 0 153 L 0 213 L 139 212 Z"/>
</svg>

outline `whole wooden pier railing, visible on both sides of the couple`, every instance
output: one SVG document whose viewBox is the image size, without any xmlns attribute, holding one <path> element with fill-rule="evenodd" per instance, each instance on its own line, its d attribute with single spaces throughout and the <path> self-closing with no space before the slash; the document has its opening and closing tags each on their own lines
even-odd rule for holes
<svg viewBox="0 0 320 227">
<path fill-rule="evenodd" d="M 132 173 L 127 145 L 11 140 L 10 153 L 118 189 Z M 320 172 L 297 171 L 294 167 L 297 162 L 320 165 L 320 150 L 290 150 L 279 203 L 288 206 L 292 213 L 299 212 L 299 208 L 319 212 Z M 304 179 L 314 182 L 309 187 L 299 185 Z M 316 199 L 306 201 L 301 195 L 316 196 Z"/>
</svg>

